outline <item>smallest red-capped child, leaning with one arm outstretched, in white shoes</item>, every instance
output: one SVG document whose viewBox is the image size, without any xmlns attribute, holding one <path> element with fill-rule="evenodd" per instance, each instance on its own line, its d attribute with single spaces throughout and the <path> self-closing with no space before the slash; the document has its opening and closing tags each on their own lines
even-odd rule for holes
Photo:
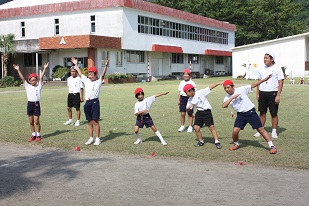
<svg viewBox="0 0 309 206">
<path fill-rule="evenodd" d="M 165 92 L 163 94 L 156 94 L 151 97 L 144 98 L 144 91 L 142 88 L 136 88 L 134 91 L 135 98 L 138 100 L 135 103 L 134 114 L 136 116 L 136 123 L 134 127 L 134 132 L 136 134 L 137 140 L 134 144 L 141 144 L 142 138 L 139 134 L 139 128 L 143 128 L 144 125 L 146 128 L 150 127 L 152 131 L 159 137 L 162 145 L 167 145 L 166 141 L 163 139 L 161 133 L 155 127 L 152 118 L 150 117 L 150 107 L 156 101 L 156 97 L 160 97 L 162 95 L 166 95 L 169 92 Z"/>
</svg>

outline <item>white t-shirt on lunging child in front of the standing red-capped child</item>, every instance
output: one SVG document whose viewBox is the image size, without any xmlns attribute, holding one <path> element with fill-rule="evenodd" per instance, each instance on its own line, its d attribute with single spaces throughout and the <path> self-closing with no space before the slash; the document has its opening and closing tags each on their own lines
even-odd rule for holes
<svg viewBox="0 0 309 206">
<path fill-rule="evenodd" d="M 207 95 L 210 94 L 210 92 L 211 91 L 209 87 L 196 91 L 193 97 L 189 97 L 187 107 L 192 104 L 196 106 L 197 110 L 203 111 L 212 109 L 210 103 L 207 100 Z"/>
</svg>

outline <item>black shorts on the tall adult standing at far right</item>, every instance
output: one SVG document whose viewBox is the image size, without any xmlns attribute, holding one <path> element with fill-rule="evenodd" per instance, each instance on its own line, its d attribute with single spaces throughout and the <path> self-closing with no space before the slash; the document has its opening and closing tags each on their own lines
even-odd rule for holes
<svg viewBox="0 0 309 206">
<path fill-rule="evenodd" d="M 271 114 L 277 114 L 279 109 L 279 104 L 276 104 L 275 99 L 277 96 L 277 91 L 273 92 L 259 92 L 259 112 L 266 113 L 267 108 Z"/>
</svg>

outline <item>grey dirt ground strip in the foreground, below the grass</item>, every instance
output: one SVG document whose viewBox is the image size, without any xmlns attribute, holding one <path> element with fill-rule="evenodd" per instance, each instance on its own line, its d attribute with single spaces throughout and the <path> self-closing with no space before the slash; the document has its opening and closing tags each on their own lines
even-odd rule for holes
<svg viewBox="0 0 309 206">
<path fill-rule="evenodd" d="M 0 144 L 0 205 L 308 205 L 309 171 Z"/>
</svg>

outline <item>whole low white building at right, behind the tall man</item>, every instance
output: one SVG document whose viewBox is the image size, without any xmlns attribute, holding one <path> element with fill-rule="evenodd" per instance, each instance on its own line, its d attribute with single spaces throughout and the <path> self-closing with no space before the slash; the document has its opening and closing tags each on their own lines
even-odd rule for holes
<svg viewBox="0 0 309 206">
<path fill-rule="evenodd" d="M 275 55 L 276 64 L 285 68 L 288 78 L 309 76 L 309 33 L 239 46 L 232 52 L 233 78 L 246 74 L 246 78 L 256 79 L 267 52 Z"/>
</svg>

